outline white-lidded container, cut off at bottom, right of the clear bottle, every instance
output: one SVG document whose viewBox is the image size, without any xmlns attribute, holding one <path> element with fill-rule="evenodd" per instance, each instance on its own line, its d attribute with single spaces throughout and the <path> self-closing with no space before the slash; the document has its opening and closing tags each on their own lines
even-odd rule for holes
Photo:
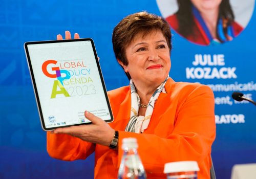
<svg viewBox="0 0 256 179">
<path fill-rule="evenodd" d="M 170 162 L 164 165 L 167 179 L 196 179 L 199 167 L 196 161 Z"/>
</svg>

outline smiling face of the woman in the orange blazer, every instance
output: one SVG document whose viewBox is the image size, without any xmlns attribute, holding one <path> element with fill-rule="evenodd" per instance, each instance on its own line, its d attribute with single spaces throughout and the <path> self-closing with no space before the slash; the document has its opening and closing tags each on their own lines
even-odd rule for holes
<svg viewBox="0 0 256 179">
<path fill-rule="evenodd" d="M 137 34 L 125 49 L 128 65 L 122 65 L 135 85 L 160 85 L 170 71 L 170 52 L 160 30 Z"/>
</svg>

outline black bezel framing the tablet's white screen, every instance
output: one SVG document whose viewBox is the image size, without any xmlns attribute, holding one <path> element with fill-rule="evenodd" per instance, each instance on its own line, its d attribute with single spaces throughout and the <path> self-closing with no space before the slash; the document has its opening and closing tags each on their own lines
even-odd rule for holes
<svg viewBox="0 0 256 179">
<path fill-rule="evenodd" d="M 29 42 L 24 43 L 24 49 L 25 49 L 25 54 L 27 56 L 27 62 L 28 62 L 28 66 L 29 66 L 30 77 L 31 77 L 31 80 L 32 80 L 32 83 L 33 83 L 33 89 L 34 89 L 34 94 L 35 94 L 35 98 L 36 98 L 37 109 L 39 111 L 41 127 L 45 131 L 51 131 L 51 130 L 54 130 L 56 128 L 69 127 L 69 126 L 73 126 L 73 125 L 77 126 L 77 125 L 83 125 L 83 124 L 85 124 L 85 125 L 92 124 L 92 122 L 88 122 L 88 123 L 79 123 L 79 124 L 73 124 L 73 125 L 67 125 L 67 126 L 56 126 L 56 127 L 46 128 L 45 121 L 44 121 L 44 116 L 42 115 L 40 99 L 39 99 L 39 95 L 38 95 L 38 91 L 37 91 L 37 86 L 36 86 L 36 82 L 35 82 L 35 77 L 34 77 L 34 72 L 33 72 L 33 68 L 32 68 L 31 59 L 30 59 L 30 56 L 29 56 L 28 45 L 30 45 L 30 44 L 45 44 L 45 43 L 65 43 L 65 42 L 73 42 L 73 41 L 91 41 L 93 52 L 94 52 L 94 57 L 95 57 L 95 60 L 96 60 L 96 64 L 97 64 L 97 68 L 98 68 L 98 72 L 99 72 L 99 76 L 100 76 L 100 80 L 101 80 L 101 84 L 102 84 L 102 87 L 103 87 L 106 103 L 108 104 L 110 117 L 111 117 L 110 120 L 104 120 L 104 121 L 105 122 L 114 121 L 110 101 L 109 101 L 109 98 L 108 98 L 108 94 L 106 93 L 105 82 L 104 82 L 104 79 L 103 79 L 103 75 L 102 75 L 102 71 L 101 71 L 101 68 L 100 68 L 97 52 L 96 52 L 94 41 L 93 41 L 92 38 L 79 38 L 79 39 L 68 39 L 68 40 L 29 41 Z"/>
</svg>

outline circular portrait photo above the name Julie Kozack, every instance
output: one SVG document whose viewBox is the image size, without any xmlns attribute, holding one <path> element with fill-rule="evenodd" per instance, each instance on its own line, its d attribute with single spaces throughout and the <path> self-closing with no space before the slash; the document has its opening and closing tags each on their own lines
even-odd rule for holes
<svg viewBox="0 0 256 179">
<path fill-rule="evenodd" d="M 156 0 L 170 27 L 190 42 L 231 41 L 247 26 L 255 0 Z"/>
</svg>

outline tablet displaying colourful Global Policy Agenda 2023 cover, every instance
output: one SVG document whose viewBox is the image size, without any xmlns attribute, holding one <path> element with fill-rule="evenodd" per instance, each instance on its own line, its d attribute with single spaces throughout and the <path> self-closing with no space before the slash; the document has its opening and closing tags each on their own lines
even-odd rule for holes
<svg viewBox="0 0 256 179">
<path fill-rule="evenodd" d="M 91 38 L 24 44 L 42 128 L 91 124 L 84 111 L 113 121 Z"/>
</svg>

